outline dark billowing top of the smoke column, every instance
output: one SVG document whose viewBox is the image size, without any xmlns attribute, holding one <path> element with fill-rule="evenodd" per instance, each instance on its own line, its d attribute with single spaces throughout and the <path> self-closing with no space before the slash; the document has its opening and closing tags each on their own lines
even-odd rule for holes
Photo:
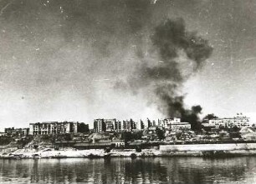
<svg viewBox="0 0 256 184">
<path fill-rule="evenodd" d="M 197 32 L 186 31 L 182 18 L 162 22 L 156 27 L 151 40 L 163 62 L 177 63 L 175 58 L 179 57 L 178 51 L 182 50 L 195 62 L 195 70 L 201 67 L 212 53 L 212 47 L 208 45 L 207 40 L 197 36 Z"/>
</svg>

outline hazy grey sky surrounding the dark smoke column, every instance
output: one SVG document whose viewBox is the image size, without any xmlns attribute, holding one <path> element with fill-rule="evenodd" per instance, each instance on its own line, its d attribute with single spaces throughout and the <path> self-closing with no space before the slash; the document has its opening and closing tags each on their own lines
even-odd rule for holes
<svg viewBox="0 0 256 184">
<path fill-rule="evenodd" d="M 187 107 L 256 117 L 256 1 L 2 0 L 0 128 L 165 117 L 115 84 L 150 55 L 154 28 L 177 17 L 213 47 L 183 87 Z"/>
</svg>

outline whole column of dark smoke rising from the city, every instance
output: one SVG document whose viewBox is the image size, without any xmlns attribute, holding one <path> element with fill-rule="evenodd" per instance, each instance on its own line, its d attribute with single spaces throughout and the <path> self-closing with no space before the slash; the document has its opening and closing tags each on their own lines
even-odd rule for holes
<svg viewBox="0 0 256 184">
<path fill-rule="evenodd" d="M 161 112 L 168 117 L 181 117 L 182 122 L 191 122 L 192 129 L 196 129 L 202 107 L 186 109 L 184 96 L 179 94 L 179 90 L 183 82 L 210 57 L 212 47 L 207 40 L 197 36 L 197 32 L 187 31 L 182 18 L 161 22 L 151 36 L 151 42 L 160 62 L 143 62 L 137 71 L 141 75 L 132 79 L 131 86 L 147 87 L 147 92 L 153 92 L 158 98 L 156 103 Z M 184 56 L 186 63 L 182 65 Z"/>
</svg>

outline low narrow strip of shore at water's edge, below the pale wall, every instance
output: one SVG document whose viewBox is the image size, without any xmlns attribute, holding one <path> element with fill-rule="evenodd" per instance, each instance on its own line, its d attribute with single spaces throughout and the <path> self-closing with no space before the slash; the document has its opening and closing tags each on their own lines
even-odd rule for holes
<svg viewBox="0 0 256 184">
<path fill-rule="evenodd" d="M 233 150 L 233 151 L 168 151 L 163 152 L 156 149 L 144 149 L 136 152 L 135 149 L 111 150 L 106 153 L 103 149 L 95 150 L 64 150 L 47 152 L 13 152 L 9 154 L 0 154 L 0 159 L 51 159 L 51 158 L 146 158 L 146 157 L 245 157 L 256 156 L 256 150 Z"/>
</svg>

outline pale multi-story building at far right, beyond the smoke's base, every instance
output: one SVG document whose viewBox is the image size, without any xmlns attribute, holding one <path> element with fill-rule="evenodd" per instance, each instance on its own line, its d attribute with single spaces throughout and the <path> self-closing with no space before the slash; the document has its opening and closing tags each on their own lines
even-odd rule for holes
<svg viewBox="0 0 256 184">
<path fill-rule="evenodd" d="M 253 123 L 250 122 L 249 117 L 243 116 L 242 113 L 237 114 L 237 117 L 211 119 L 209 120 L 209 125 L 215 127 L 253 127 Z"/>
</svg>

